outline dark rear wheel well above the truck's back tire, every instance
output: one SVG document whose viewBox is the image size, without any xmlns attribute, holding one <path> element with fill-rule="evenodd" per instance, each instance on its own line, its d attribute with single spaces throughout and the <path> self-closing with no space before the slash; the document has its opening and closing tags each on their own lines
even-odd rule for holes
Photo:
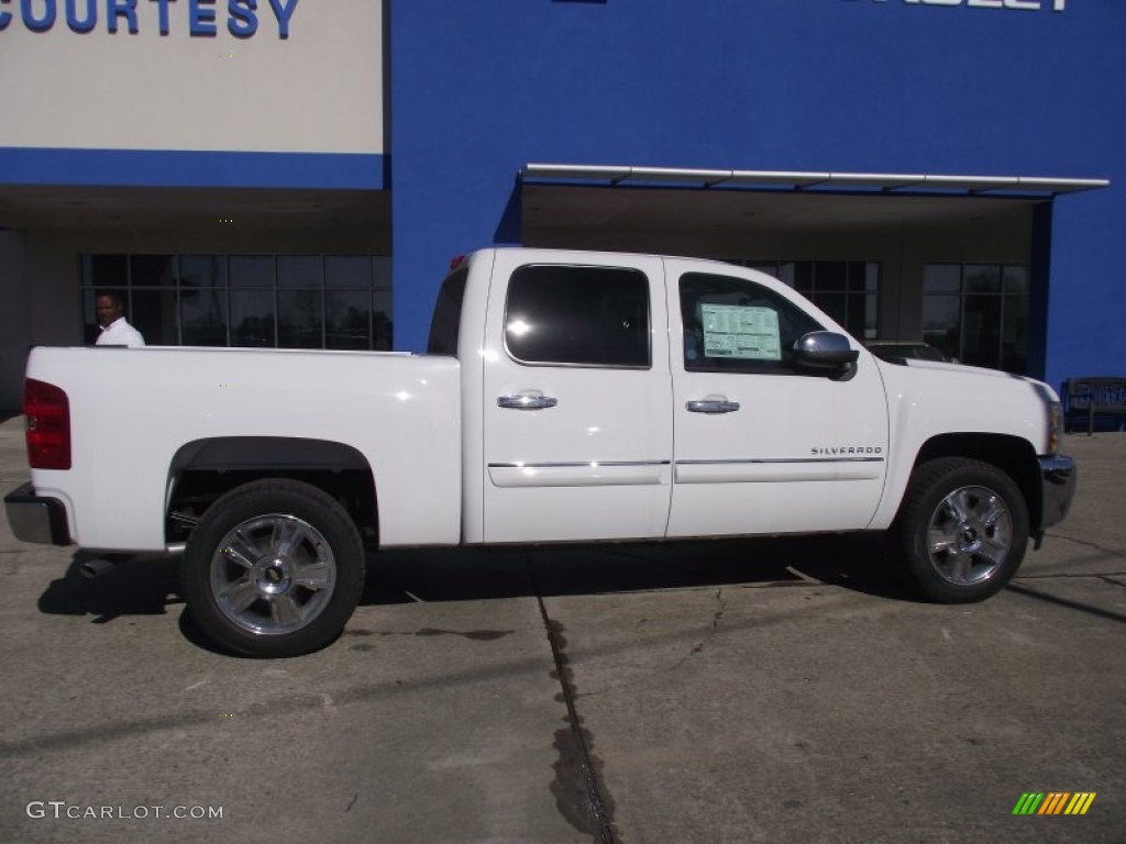
<svg viewBox="0 0 1126 844">
<path fill-rule="evenodd" d="M 375 475 L 366 458 L 340 442 L 287 437 L 223 437 L 180 448 L 169 467 L 166 540 L 187 541 L 216 499 L 267 478 L 324 491 L 345 508 L 366 544 L 377 541 Z"/>
</svg>

